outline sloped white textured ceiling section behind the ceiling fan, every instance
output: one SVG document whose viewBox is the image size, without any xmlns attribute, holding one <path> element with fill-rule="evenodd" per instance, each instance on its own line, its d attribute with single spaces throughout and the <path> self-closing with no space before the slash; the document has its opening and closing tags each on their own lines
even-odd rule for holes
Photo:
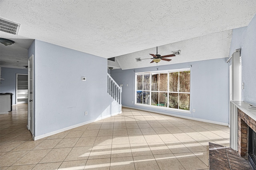
<svg viewBox="0 0 256 170">
<path fill-rule="evenodd" d="M 178 50 L 181 54 L 167 58 L 172 61 L 160 61 L 158 66 L 229 57 L 231 37 L 232 30 L 228 30 L 159 46 L 158 54 L 160 55 L 172 54 L 172 51 Z M 152 59 L 148 58 L 152 56 L 149 54 L 156 54 L 156 47 L 116 57 L 116 61 L 123 70 L 156 66 L 156 63 L 150 63 Z M 148 60 L 136 62 L 138 57 Z"/>
</svg>

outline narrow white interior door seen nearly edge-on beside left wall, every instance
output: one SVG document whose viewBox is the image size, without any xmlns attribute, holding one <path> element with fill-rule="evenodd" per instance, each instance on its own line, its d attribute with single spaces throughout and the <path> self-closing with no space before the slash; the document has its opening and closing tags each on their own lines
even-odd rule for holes
<svg viewBox="0 0 256 170">
<path fill-rule="evenodd" d="M 34 76 L 33 76 L 34 55 L 28 59 L 28 129 L 34 135 Z"/>
</svg>

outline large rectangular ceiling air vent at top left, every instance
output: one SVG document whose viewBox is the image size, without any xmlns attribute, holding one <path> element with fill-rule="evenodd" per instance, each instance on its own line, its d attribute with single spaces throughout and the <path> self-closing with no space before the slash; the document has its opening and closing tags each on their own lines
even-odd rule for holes
<svg viewBox="0 0 256 170">
<path fill-rule="evenodd" d="M 18 34 L 19 29 L 20 24 L 0 18 L 0 31 L 11 34 Z"/>
</svg>

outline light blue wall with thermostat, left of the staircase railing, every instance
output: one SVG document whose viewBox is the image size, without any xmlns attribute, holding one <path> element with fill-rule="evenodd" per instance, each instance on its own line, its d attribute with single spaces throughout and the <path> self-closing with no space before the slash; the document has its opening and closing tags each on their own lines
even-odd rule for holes
<svg viewBox="0 0 256 170">
<path fill-rule="evenodd" d="M 119 111 L 107 93 L 107 59 L 38 40 L 34 53 L 36 137 Z"/>
</svg>

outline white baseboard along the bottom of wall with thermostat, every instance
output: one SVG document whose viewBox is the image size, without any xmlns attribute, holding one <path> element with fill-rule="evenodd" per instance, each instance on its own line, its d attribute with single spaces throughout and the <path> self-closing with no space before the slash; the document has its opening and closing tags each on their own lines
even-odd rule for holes
<svg viewBox="0 0 256 170">
<path fill-rule="evenodd" d="M 118 114 L 120 114 L 120 113 L 122 113 L 122 111 L 117 112 L 117 113 L 113 113 L 113 114 L 111 114 L 111 115 L 106 115 L 106 116 L 103 116 L 103 117 L 98 117 L 97 119 L 93 119 L 93 120 L 90 120 L 90 121 L 86 121 L 86 122 L 83 122 L 83 123 L 79 123 L 79 124 L 76 124 L 76 125 L 72 125 L 72 126 L 70 126 L 70 127 L 65 127 L 65 128 L 63 128 L 63 129 L 59 129 L 59 130 L 57 130 L 57 131 L 53 131 L 53 132 L 50 132 L 50 133 L 46 133 L 46 134 L 44 134 L 44 135 L 40 135 L 40 136 L 36 136 L 36 137 L 33 135 L 33 139 L 34 139 L 34 141 L 36 141 L 36 140 L 38 140 L 38 139 L 42 139 L 42 138 L 45 138 L 45 137 L 48 137 L 48 136 L 51 136 L 51 135 L 55 135 L 55 134 L 57 134 L 57 133 L 64 132 L 64 131 L 67 131 L 67 130 L 70 130 L 70 129 L 73 129 L 73 128 L 76 128 L 76 127 L 79 127 L 79 126 L 82 126 L 82 125 L 86 125 L 86 124 L 88 124 L 88 123 L 92 123 L 92 122 L 94 122 L 94 121 L 98 121 L 98 120 L 106 119 L 106 118 L 108 118 L 108 117 L 112 117 L 112 116 L 114 116 L 114 115 L 118 115 Z"/>
</svg>

